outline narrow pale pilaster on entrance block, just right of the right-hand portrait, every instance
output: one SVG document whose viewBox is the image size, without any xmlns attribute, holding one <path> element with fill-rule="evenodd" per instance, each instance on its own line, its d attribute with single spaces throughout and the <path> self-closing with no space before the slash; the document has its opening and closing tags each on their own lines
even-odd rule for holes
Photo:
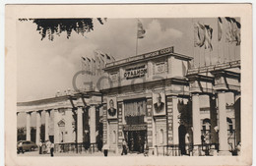
<svg viewBox="0 0 256 166">
<path fill-rule="evenodd" d="M 172 125 L 172 134 L 173 134 L 173 144 L 178 144 L 178 127 L 179 127 L 179 120 L 178 120 L 178 98 L 176 96 L 172 96 L 172 115 L 173 115 L 173 125 Z"/>
</svg>

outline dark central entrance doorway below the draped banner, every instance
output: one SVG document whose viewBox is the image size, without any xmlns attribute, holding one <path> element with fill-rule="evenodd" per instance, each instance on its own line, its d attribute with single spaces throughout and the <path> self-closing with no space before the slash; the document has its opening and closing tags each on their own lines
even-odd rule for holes
<svg viewBox="0 0 256 166">
<path fill-rule="evenodd" d="M 147 131 L 128 131 L 128 147 L 131 152 L 142 153 Z"/>
</svg>

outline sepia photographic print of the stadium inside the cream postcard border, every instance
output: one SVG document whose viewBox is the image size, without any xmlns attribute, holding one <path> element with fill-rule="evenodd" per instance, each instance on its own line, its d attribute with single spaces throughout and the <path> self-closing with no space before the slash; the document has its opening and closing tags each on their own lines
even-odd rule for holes
<svg viewBox="0 0 256 166">
<path fill-rule="evenodd" d="M 245 154 L 241 16 L 71 13 L 15 19 L 15 157 Z"/>
</svg>

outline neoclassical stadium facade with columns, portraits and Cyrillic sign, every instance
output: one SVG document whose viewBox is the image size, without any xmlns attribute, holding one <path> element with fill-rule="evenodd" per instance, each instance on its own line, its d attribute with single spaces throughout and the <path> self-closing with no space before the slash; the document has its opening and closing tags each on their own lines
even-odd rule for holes
<svg viewBox="0 0 256 166">
<path fill-rule="evenodd" d="M 167 47 L 106 64 L 108 79 L 99 90 L 18 103 L 18 116 L 27 113 L 27 139 L 35 113 L 38 143 L 44 111 L 45 139 L 53 140 L 56 150 L 89 142 L 121 152 L 125 140 L 134 152 L 148 144 L 158 155 L 210 155 L 205 148 L 229 155 L 241 137 L 240 61 L 191 68 L 191 60 Z M 231 105 L 226 93 L 232 94 Z"/>
</svg>

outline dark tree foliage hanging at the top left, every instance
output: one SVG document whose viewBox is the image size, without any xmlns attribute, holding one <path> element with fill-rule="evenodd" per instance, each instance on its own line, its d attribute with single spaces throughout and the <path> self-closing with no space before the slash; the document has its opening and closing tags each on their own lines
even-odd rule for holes
<svg viewBox="0 0 256 166">
<path fill-rule="evenodd" d="M 41 40 L 47 37 L 53 41 L 55 34 L 60 35 L 62 32 L 67 32 L 67 38 L 71 36 L 74 30 L 78 34 L 85 36 L 86 32 L 94 30 L 94 24 L 92 18 L 86 19 L 19 19 L 20 22 L 32 21 L 37 25 L 36 30 L 41 35 Z M 106 19 L 97 18 L 100 25 L 106 22 Z"/>
</svg>

